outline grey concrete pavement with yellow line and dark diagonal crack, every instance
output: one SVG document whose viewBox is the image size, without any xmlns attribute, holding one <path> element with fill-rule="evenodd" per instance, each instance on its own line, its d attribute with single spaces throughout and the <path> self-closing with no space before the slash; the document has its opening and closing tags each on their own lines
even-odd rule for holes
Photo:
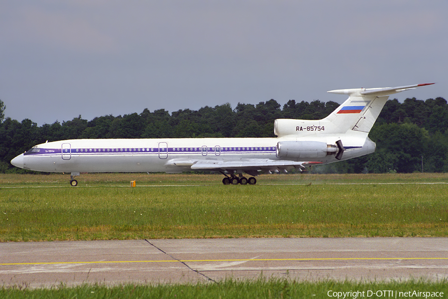
<svg viewBox="0 0 448 299">
<path fill-rule="evenodd" d="M 225 278 L 448 278 L 448 238 L 260 238 L 0 243 L 0 284 L 196 283 Z"/>
</svg>

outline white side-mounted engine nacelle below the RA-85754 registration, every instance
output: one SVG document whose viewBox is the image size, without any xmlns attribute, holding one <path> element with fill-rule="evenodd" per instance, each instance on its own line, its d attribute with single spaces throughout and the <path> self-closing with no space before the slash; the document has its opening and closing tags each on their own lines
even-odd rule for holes
<svg viewBox="0 0 448 299">
<path fill-rule="evenodd" d="M 300 158 L 312 160 L 325 158 L 338 152 L 336 145 L 327 145 L 320 141 L 281 141 L 277 143 L 277 156 L 282 158 Z"/>
</svg>

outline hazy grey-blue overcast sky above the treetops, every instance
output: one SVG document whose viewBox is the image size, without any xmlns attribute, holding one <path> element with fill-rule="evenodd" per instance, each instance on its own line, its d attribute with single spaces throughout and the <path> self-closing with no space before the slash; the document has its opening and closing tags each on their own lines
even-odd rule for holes
<svg viewBox="0 0 448 299">
<path fill-rule="evenodd" d="M 345 88 L 448 100 L 447 0 L 2 0 L 5 115 L 55 121 Z"/>
</svg>

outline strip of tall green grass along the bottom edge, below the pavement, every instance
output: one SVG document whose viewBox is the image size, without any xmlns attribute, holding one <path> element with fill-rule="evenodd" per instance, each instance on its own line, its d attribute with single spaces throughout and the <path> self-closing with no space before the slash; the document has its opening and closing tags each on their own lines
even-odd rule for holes
<svg viewBox="0 0 448 299">
<path fill-rule="evenodd" d="M 368 292 L 371 293 L 368 293 Z M 395 293 L 397 292 L 397 297 Z M 237 281 L 228 279 L 217 284 L 197 283 L 194 285 L 119 285 L 106 287 L 101 285 L 84 285 L 80 287 L 67 288 L 59 286 L 52 289 L 31 290 L 26 287 L 0 288 L 0 297 L 7 299 L 15 298 L 194 298 L 194 299 L 253 299 L 253 298 L 337 298 L 337 292 L 350 294 L 345 298 L 403 298 L 405 292 L 425 292 L 430 296 L 418 296 L 418 298 L 429 298 L 431 294 L 442 296 L 431 298 L 446 298 L 448 284 L 446 281 L 428 282 L 424 280 L 410 280 L 406 282 L 297 282 L 286 279 L 263 279 L 254 281 Z M 330 292 L 330 293 L 329 293 Z M 357 293 L 359 292 L 359 293 Z M 362 295 L 364 292 L 364 296 Z M 378 293 L 377 293 L 378 292 Z M 389 292 L 389 293 L 386 293 Z M 330 294 L 332 297 L 329 297 Z M 356 294 L 356 295 L 354 295 Z M 370 295 L 367 297 L 367 294 Z M 418 293 L 417 293 L 418 294 Z M 387 296 L 386 296 L 387 295 Z M 390 295 L 390 296 L 389 296 Z M 393 296 L 392 296 L 393 295 Z M 406 296 L 406 297 L 411 297 Z M 416 297 L 416 296 L 413 296 Z"/>
</svg>

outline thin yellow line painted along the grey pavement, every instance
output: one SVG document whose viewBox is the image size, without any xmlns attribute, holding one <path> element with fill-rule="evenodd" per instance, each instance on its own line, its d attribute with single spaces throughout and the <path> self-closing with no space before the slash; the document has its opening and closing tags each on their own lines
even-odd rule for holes
<svg viewBox="0 0 448 299">
<path fill-rule="evenodd" d="M 303 259 L 223 259 L 223 260 L 151 260 L 151 261 L 94 261 L 94 262 L 30 262 L 1 263 L 0 266 L 32 266 L 57 264 L 123 264 L 123 263 L 199 263 L 199 262 L 282 262 L 282 261 L 394 261 L 394 260 L 448 260 L 448 258 L 303 258 Z"/>
</svg>

